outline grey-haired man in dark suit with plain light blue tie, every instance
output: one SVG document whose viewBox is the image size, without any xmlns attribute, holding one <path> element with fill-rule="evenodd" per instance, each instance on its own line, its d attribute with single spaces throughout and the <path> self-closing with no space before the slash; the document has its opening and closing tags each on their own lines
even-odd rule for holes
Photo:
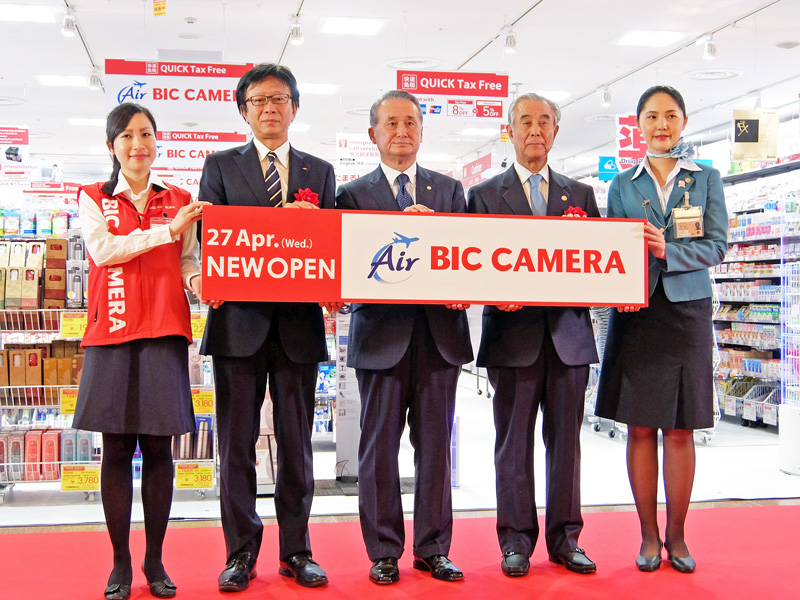
<svg viewBox="0 0 800 600">
<path fill-rule="evenodd" d="M 547 165 L 561 111 L 537 94 L 511 105 L 509 137 L 516 162 L 469 190 L 467 211 L 504 215 L 560 216 L 572 206 L 599 217 L 588 185 Z M 546 200 L 545 200 L 546 199 Z M 477 364 L 487 367 L 495 389 L 497 535 L 501 567 L 510 577 L 528 573 L 536 545 L 533 444 L 541 408 L 547 465 L 545 542 L 550 560 L 576 573 L 595 564 L 578 547 L 583 527 L 580 502 L 580 429 L 589 379 L 597 362 L 586 308 L 487 306 Z"/>
</svg>

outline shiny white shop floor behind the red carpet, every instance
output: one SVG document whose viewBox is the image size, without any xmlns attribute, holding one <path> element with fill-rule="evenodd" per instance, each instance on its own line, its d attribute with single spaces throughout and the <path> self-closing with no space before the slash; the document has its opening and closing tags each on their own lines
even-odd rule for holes
<svg viewBox="0 0 800 600">
<path fill-rule="evenodd" d="M 456 511 L 464 511 L 464 516 L 469 511 L 494 510 L 494 427 L 491 400 L 476 393 L 474 375 L 462 375 L 456 415 L 461 427 L 460 486 L 453 490 L 453 507 Z M 609 423 L 603 422 L 602 425 L 603 430 L 595 432 L 587 420 L 581 437 L 582 503 L 587 510 L 591 510 L 589 507 L 619 507 L 633 503 L 625 470 L 625 441 L 622 436 L 609 438 Z M 329 449 L 332 444 L 323 439 L 317 446 Z M 335 462 L 334 452 L 316 452 L 316 478 L 334 478 Z M 537 437 L 534 462 L 538 482 L 537 504 L 542 506 L 544 447 L 541 437 Z M 401 448 L 399 464 L 401 476 L 413 477 L 413 450 L 407 438 Z M 742 427 L 737 421 L 723 418 L 707 445 L 703 445 L 698 439 L 697 475 L 692 498 L 696 502 L 800 498 L 800 477 L 787 475 L 779 470 L 778 435 L 774 428 L 750 429 Z M 404 495 L 403 503 L 406 510 L 411 511 L 413 497 Z M 274 517 L 272 499 L 259 498 L 258 511 L 262 517 Z M 312 506 L 312 514 L 322 520 L 327 516 L 347 519 L 357 513 L 355 496 L 317 496 Z M 216 494 L 209 492 L 205 498 L 198 498 L 194 492 L 176 492 L 172 518 L 218 519 L 219 502 Z M 133 519 L 142 519 L 138 490 Z M 19 484 L 6 495 L 4 504 L 0 505 L 0 527 L 91 523 L 103 523 L 99 498 L 87 501 L 82 492 L 61 492 L 57 484 Z"/>
</svg>

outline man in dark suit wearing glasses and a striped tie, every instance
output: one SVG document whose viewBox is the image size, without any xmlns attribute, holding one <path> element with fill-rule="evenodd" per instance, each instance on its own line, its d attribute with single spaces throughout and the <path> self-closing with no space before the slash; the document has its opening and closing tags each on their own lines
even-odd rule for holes
<svg viewBox="0 0 800 600">
<path fill-rule="evenodd" d="M 253 140 L 206 158 L 199 197 L 221 205 L 314 209 L 309 201 L 295 200 L 299 189 L 309 189 L 319 207 L 332 208 L 333 168 L 295 150 L 288 141 L 300 104 L 291 71 L 281 65 L 256 65 L 239 80 L 236 103 Z M 263 525 L 256 514 L 255 443 L 267 380 L 278 444 L 279 572 L 307 587 L 324 585 L 328 579 L 311 558 L 308 535 L 314 495 L 314 389 L 317 363 L 328 360 L 322 310 L 308 303 L 207 303 L 211 308 L 200 351 L 214 357 L 227 547 L 219 588 L 244 590 L 256 575 Z"/>
</svg>

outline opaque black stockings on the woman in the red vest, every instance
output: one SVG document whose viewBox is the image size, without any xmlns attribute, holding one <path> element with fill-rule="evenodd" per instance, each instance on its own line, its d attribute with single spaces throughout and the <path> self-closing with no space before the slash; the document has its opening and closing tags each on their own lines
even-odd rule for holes
<svg viewBox="0 0 800 600">
<path fill-rule="evenodd" d="M 148 581 L 166 579 L 161 546 L 172 506 L 172 438 L 137 434 L 103 434 L 101 496 L 108 535 L 114 549 L 109 585 L 130 585 L 133 579 L 129 546 L 133 484 L 131 460 L 136 442 L 142 451 L 142 506 L 145 540 L 144 572 Z"/>
</svg>

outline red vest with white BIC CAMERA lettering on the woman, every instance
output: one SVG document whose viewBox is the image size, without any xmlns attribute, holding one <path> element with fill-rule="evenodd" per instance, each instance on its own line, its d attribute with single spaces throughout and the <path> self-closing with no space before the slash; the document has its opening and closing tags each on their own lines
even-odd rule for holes
<svg viewBox="0 0 800 600">
<path fill-rule="evenodd" d="M 108 196 L 103 183 L 81 187 L 108 222 L 108 231 L 126 235 L 150 229 L 151 221 L 173 219 L 189 202 L 189 192 L 167 184 L 150 192 L 139 213 L 124 194 Z M 192 342 L 189 303 L 181 277 L 183 239 L 155 246 L 124 263 L 98 267 L 89 255 L 89 310 L 82 346 L 121 344 L 142 338 L 182 335 Z"/>
</svg>

